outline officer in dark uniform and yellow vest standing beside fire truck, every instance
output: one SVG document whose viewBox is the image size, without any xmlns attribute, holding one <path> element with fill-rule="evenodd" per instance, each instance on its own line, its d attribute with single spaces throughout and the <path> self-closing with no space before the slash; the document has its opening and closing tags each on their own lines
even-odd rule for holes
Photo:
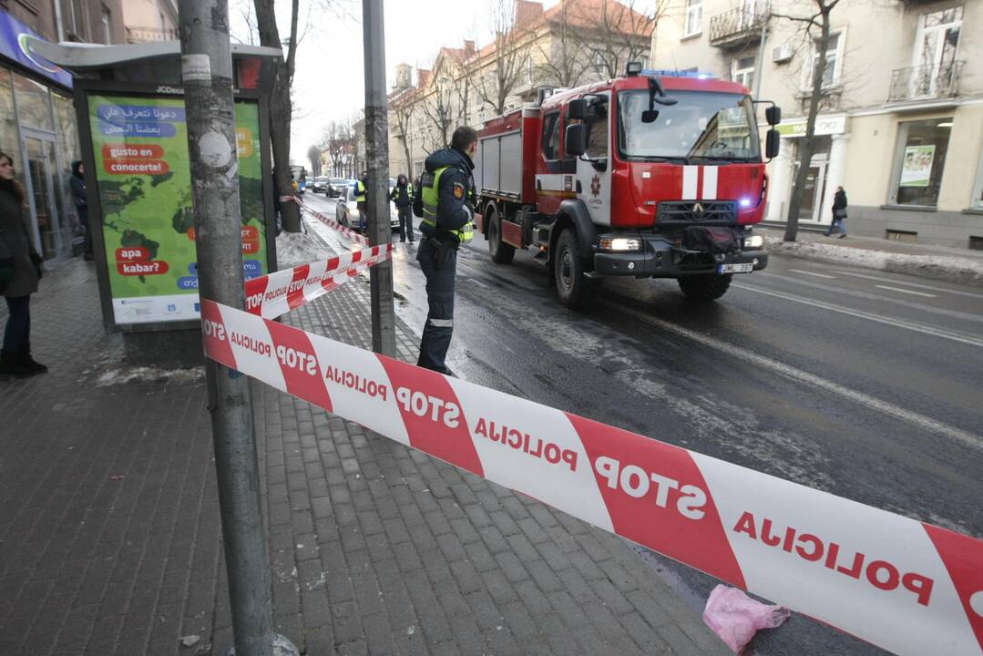
<svg viewBox="0 0 983 656">
<path fill-rule="evenodd" d="M 478 133 L 461 126 L 454 131 L 450 148 L 437 150 L 424 164 L 413 213 L 422 217 L 423 239 L 417 261 L 427 276 L 427 325 L 420 341 L 417 366 L 441 374 L 454 328 L 454 275 L 457 249 L 474 234 L 475 182 L 472 155 L 478 149 Z"/>
</svg>

